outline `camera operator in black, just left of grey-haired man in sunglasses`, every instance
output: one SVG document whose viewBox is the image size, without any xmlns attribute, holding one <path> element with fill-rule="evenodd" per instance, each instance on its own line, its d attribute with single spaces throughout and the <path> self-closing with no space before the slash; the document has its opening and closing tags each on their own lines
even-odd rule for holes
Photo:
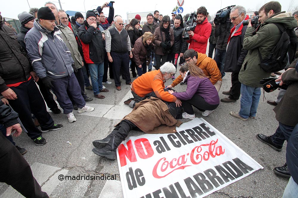
<svg viewBox="0 0 298 198">
<path fill-rule="evenodd" d="M 214 36 L 218 37 L 216 43 L 216 51 L 214 60 L 218 66 L 219 71 L 221 72 L 221 77 L 225 76 L 224 73 L 224 64 L 226 62 L 226 46 L 228 44 L 228 38 L 233 27 L 233 23 L 229 20 L 231 7 L 228 6 L 224 9 L 219 10 L 214 19 L 215 30 Z"/>
</svg>

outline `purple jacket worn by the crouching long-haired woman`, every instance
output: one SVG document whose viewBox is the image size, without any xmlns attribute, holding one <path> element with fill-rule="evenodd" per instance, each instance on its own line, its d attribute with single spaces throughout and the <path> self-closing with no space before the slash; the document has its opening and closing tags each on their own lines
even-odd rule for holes
<svg viewBox="0 0 298 198">
<path fill-rule="evenodd" d="M 199 78 L 188 74 L 184 80 L 184 83 L 185 82 L 187 82 L 186 91 L 173 93 L 178 99 L 189 100 L 195 94 L 198 94 L 203 97 L 208 104 L 219 104 L 218 92 L 209 78 Z"/>
</svg>

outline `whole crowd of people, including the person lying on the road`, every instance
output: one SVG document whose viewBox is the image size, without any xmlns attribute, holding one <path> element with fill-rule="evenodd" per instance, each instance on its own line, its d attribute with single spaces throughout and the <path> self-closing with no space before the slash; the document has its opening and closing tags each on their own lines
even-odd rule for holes
<svg viewBox="0 0 298 198">
<path fill-rule="evenodd" d="M 63 127 L 55 124 L 46 111 L 47 105 L 54 114 L 61 113 L 53 94 L 68 121 L 73 123 L 76 121 L 74 110 L 78 113 L 94 110 L 86 104 L 94 98 L 87 96 L 85 89 L 92 90 L 96 99 L 104 99 L 102 93 L 109 91 L 104 85 L 112 84 L 109 79 L 114 79 L 117 91 L 121 91 L 120 78 L 131 86 L 133 98 L 124 103 L 134 108 L 133 111 L 108 137 L 93 142 L 94 153 L 115 160 L 115 150 L 129 131 L 176 132 L 175 127 L 181 124 L 177 119 L 196 117 L 193 107 L 208 116 L 220 101 L 229 103 L 240 99 L 239 112 L 230 112 L 230 115 L 242 121 L 254 119 L 261 95 L 260 80 L 272 75 L 262 69 L 261 61 L 274 49 L 283 33 L 275 24 L 295 32 L 298 39 L 298 10 L 282 12 L 277 1 L 266 3 L 254 13 L 259 16 L 257 24 L 252 24 L 246 9 L 237 5 L 231 7 L 229 16 L 219 23 L 208 21 L 209 13 L 201 6 L 193 13 L 194 21 L 189 20 L 192 14 L 182 17 L 174 11 L 170 18 L 156 10 L 147 15 L 147 22 L 142 27 L 140 15 L 124 26 L 122 17 L 114 15 L 113 3 L 105 2 L 97 9 L 87 11 L 85 17 L 80 12 L 69 17 L 53 2 L 46 2 L 44 7 L 18 15 L 21 27 L 17 35 L 0 15 L 0 92 L 3 96 L 0 102 L 0 123 L 3 125 L 0 129 L 7 137 L 1 139 L 9 148 L 4 151 L 4 145 L 1 145 L 0 151 L 12 152 L 10 159 L 5 161 L 20 161 L 28 175 L 29 187 L 21 188 L 18 179 L 13 182 L 5 176 L 0 179 L 25 197 L 32 197 L 28 195 L 30 192 L 35 194 L 33 197 L 48 195 L 36 184 L 27 162 L 21 160 L 27 150 L 15 145 L 10 132 L 15 129 L 15 136 L 21 133 L 16 121 L 19 118 L 23 130 L 36 145 L 46 144 L 42 132 Z M 103 13 L 106 7 L 108 17 Z M 248 25 L 243 24 L 245 20 Z M 296 47 L 297 39 L 294 41 Z M 288 53 L 285 72 L 278 73 L 280 77 L 276 81 L 280 85 L 287 84 L 287 90 L 281 89 L 276 101 L 267 101 L 276 106 L 274 111 L 279 122 L 276 132 L 271 136 L 257 134 L 258 140 L 276 151 L 281 151 L 284 141 L 288 141 L 288 163 L 274 168 L 276 174 L 291 177 L 285 198 L 298 194 L 297 56 L 297 48 L 294 53 Z M 178 65 L 179 75 L 175 77 Z M 222 92 L 228 97 L 220 99 L 218 93 L 225 72 L 232 72 L 231 88 Z M 165 87 L 167 80 L 173 82 Z M 179 84 L 185 85 L 184 92 L 173 89 Z M 144 125 L 148 121 L 151 124 Z M 1 164 L 5 163 L 8 162 L 1 159 Z"/>
</svg>

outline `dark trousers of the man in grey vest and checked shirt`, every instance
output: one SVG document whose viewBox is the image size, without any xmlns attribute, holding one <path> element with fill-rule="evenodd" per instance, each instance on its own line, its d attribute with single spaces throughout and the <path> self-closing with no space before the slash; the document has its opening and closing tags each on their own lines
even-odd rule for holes
<svg viewBox="0 0 298 198">
<path fill-rule="evenodd" d="M 131 83 L 130 73 L 129 73 L 129 54 L 111 52 L 113 58 L 113 74 L 115 86 L 118 87 L 120 83 L 120 74 L 122 73 L 122 78 L 125 79 L 125 83 Z"/>
</svg>

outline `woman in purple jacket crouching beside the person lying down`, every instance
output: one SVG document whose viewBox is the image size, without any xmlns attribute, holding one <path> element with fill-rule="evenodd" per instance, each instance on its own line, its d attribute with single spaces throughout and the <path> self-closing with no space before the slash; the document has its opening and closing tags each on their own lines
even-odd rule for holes
<svg viewBox="0 0 298 198">
<path fill-rule="evenodd" d="M 209 78 L 198 66 L 190 62 L 181 66 L 179 72 L 183 77 L 183 82 L 187 82 L 186 91 L 174 92 L 169 90 L 169 93 L 181 100 L 184 108 L 182 117 L 195 118 L 192 106 L 200 111 L 209 110 L 212 113 L 218 107 L 219 96 Z"/>
</svg>

